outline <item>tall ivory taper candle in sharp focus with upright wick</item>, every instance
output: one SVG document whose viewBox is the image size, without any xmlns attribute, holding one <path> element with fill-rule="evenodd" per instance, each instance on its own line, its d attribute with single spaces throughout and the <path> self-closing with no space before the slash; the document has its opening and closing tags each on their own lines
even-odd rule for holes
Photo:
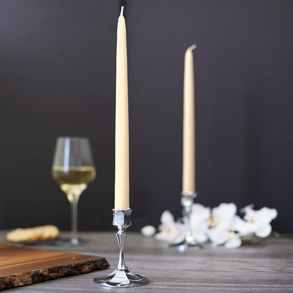
<svg viewBox="0 0 293 293">
<path fill-rule="evenodd" d="M 118 19 L 116 56 L 115 209 L 129 208 L 129 133 L 126 25 Z"/>
</svg>

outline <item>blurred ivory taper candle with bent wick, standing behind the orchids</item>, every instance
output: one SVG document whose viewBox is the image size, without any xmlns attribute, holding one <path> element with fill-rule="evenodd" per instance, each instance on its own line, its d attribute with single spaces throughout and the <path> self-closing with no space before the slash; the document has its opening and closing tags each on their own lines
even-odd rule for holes
<svg viewBox="0 0 293 293">
<path fill-rule="evenodd" d="M 185 53 L 183 88 L 183 172 L 182 192 L 195 192 L 195 111 L 193 44 Z"/>
</svg>

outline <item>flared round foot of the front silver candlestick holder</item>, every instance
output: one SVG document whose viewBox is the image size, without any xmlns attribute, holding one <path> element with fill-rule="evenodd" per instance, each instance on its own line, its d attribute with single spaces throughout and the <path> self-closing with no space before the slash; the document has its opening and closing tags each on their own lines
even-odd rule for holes
<svg viewBox="0 0 293 293">
<path fill-rule="evenodd" d="M 133 274 L 127 270 L 115 269 L 114 272 L 101 277 L 94 278 L 94 283 L 103 287 L 138 287 L 149 283 L 149 279 L 139 275 Z"/>
</svg>

